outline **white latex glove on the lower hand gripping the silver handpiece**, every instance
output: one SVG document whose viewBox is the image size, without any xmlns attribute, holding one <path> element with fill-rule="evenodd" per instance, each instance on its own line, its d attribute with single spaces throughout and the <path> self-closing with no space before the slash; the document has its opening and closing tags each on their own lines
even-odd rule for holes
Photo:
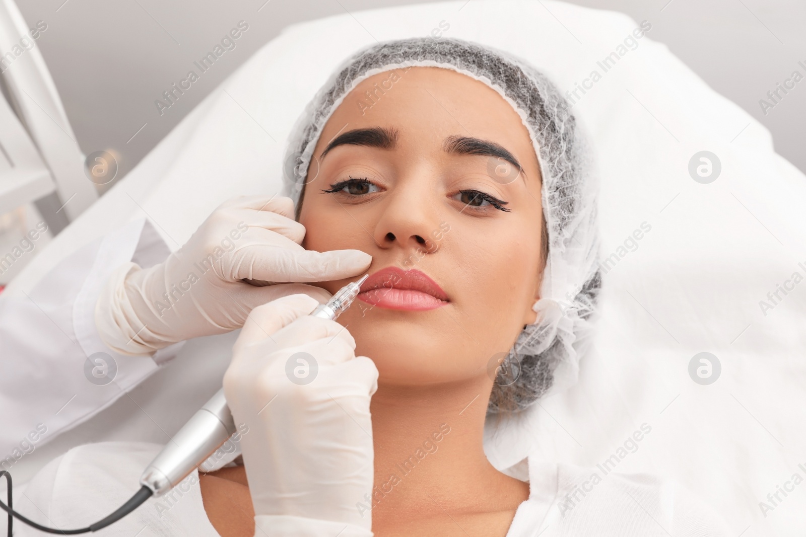
<svg viewBox="0 0 806 537">
<path fill-rule="evenodd" d="M 309 315 L 317 305 L 292 295 L 253 309 L 224 374 L 235 423 L 249 427 L 241 449 L 256 536 L 373 535 L 356 504 L 372 494 L 378 370 L 355 357 L 341 324 Z"/>
</svg>

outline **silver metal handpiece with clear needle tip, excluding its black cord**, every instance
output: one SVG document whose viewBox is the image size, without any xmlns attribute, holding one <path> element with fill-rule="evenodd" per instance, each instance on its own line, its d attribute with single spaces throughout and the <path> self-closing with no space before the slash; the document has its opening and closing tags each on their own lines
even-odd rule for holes
<svg viewBox="0 0 806 537">
<path fill-rule="evenodd" d="M 311 315 L 334 320 L 350 307 L 367 277 L 364 275 L 357 282 L 348 283 L 336 291 L 327 304 L 320 304 Z M 230 407 L 226 406 L 222 388 L 182 426 L 147 466 L 140 477 L 140 485 L 152 489 L 155 498 L 162 496 L 206 461 L 235 431 L 235 420 Z"/>
</svg>

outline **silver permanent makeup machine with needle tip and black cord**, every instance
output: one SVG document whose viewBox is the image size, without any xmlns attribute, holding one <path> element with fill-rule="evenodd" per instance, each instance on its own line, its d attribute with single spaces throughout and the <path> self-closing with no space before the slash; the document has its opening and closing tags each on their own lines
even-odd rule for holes
<svg viewBox="0 0 806 537">
<path fill-rule="evenodd" d="M 314 309 L 311 315 L 322 319 L 336 319 L 347 308 L 350 308 L 350 304 L 359 294 L 361 284 L 367 278 L 368 275 L 364 275 L 357 282 L 347 283 L 346 286 L 336 291 L 336 294 L 326 304 L 320 304 Z M 206 461 L 230 436 L 235 434 L 236 430 L 235 420 L 232 418 L 230 408 L 226 406 L 224 390 L 218 390 L 218 393 L 210 398 L 182 426 L 179 432 L 173 436 L 171 441 L 143 471 L 143 475 L 140 477 L 140 485 L 142 486 L 137 493 L 108 517 L 78 530 L 59 530 L 45 527 L 17 513 L 12 509 L 11 476 L 5 471 L 0 472 L 0 477 L 5 475 L 8 481 L 8 505 L 6 506 L 5 503 L 0 502 L 0 507 L 9 514 L 9 535 L 11 535 L 12 517 L 19 518 L 19 520 L 40 531 L 62 535 L 88 533 L 89 531 L 98 531 L 107 527 L 137 509 L 148 498 L 152 496 L 158 498 L 179 485 L 189 473 L 193 472 L 193 469 Z"/>
</svg>

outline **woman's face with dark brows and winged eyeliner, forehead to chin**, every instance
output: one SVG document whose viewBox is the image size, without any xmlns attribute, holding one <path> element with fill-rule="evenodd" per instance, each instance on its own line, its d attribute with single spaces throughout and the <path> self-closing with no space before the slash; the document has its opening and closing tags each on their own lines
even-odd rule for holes
<svg viewBox="0 0 806 537">
<path fill-rule="evenodd" d="M 540 169 L 512 106 L 449 69 L 380 72 L 330 117 L 307 181 L 302 246 L 372 255 L 380 287 L 339 323 L 379 384 L 492 386 L 496 357 L 535 321 L 543 270 Z M 373 278 L 387 267 L 399 271 Z M 405 289 L 420 272 L 442 292 Z"/>
</svg>

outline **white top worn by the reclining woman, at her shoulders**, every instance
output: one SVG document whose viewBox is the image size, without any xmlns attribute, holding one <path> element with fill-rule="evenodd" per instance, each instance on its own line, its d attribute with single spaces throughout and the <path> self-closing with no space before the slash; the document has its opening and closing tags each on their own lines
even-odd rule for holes
<svg viewBox="0 0 806 537">
<path fill-rule="evenodd" d="M 17 508 L 40 524 L 85 527 L 131 498 L 140 472 L 159 450 L 159 445 L 143 442 L 75 448 L 31 481 Z M 534 454 L 520 466 L 525 473 L 518 478 L 530 482 L 530 494 L 518 506 L 507 537 L 737 535 L 703 498 L 673 481 L 646 473 L 609 473 L 597 467 L 550 463 Z M 592 475 L 601 481 L 593 485 Z M 41 535 L 19 522 L 15 531 Z M 216 537 L 218 532 L 207 518 L 198 473 L 193 470 L 170 493 L 149 498 L 98 535 Z"/>
</svg>

